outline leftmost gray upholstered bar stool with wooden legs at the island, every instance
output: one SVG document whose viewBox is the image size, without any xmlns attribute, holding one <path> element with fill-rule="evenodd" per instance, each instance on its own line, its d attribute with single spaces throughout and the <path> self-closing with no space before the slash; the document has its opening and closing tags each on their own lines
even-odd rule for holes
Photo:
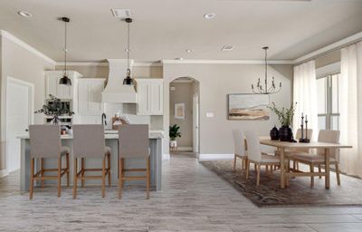
<svg viewBox="0 0 362 232">
<path fill-rule="evenodd" d="M 42 189 L 44 179 L 58 180 L 58 198 L 61 197 L 62 176 L 67 174 L 67 186 L 69 186 L 69 148 L 62 147 L 61 127 L 59 125 L 30 125 L 30 188 L 29 198 L 33 198 L 33 182 L 40 179 Z M 62 169 L 62 157 L 65 156 L 66 167 Z M 40 159 L 41 168 L 34 173 L 35 159 Z M 57 169 L 44 169 L 44 159 L 58 159 Z M 45 172 L 57 172 L 56 176 L 45 176 Z"/>
</svg>

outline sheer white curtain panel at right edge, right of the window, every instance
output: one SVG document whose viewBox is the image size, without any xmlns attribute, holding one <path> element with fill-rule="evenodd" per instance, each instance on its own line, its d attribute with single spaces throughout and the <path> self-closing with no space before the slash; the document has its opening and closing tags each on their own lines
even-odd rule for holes
<svg viewBox="0 0 362 232">
<path fill-rule="evenodd" d="M 341 50 L 339 81 L 340 169 L 362 177 L 362 42 Z"/>
</svg>

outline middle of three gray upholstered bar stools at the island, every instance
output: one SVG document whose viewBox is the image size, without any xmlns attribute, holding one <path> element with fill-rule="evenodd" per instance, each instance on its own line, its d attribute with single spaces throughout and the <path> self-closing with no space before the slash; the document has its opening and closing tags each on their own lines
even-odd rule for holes
<svg viewBox="0 0 362 232">
<path fill-rule="evenodd" d="M 78 179 L 84 187 L 85 179 L 101 179 L 101 196 L 105 197 L 106 176 L 110 186 L 110 148 L 106 147 L 103 125 L 73 125 L 74 183 L 73 198 L 77 197 Z M 86 169 L 86 158 L 101 158 L 101 169 Z M 78 159 L 81 159 L 81 170 L 78 171 Z M 106 160 L 108 167 L 106 168 Z M 86 171 L 101 171 L 101 176 L 85 176 Z"/>
</svg>

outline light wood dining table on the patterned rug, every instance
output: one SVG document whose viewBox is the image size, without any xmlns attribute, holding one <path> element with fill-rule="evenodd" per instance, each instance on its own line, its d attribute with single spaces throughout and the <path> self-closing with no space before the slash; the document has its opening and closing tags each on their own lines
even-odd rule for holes
<svg viewBox="0 0 362 232">
<path fill-rule="evenodd" d="M 285 189 L 289 185 L 289 180 L 292 177 L 325 177 L 325 188 L 329 189 L 329 156 L 330 150 L 335 149 L 350 149 L 352 146 L 338 144 L 338 143 L 328 143 L 328 142 L 319 142 L 319 141 L 310 141 L 310 142 L 290 142 L 290 141 L 280 141 L 280 140 L 271 140 L 266 139 L 265 137 L 260 138 L 260 143 L 262 145 L 271 146 L 280 151 L 281 154 L 281 189 Z M 324 152 L 324 172 L 305 172 L 305 171 L 290 171 L 289 164 L 288 168 L 284 165 L 285 163 L 285 150 L 309 150 L 309 149 L 323 149 Z"/>
</svg>

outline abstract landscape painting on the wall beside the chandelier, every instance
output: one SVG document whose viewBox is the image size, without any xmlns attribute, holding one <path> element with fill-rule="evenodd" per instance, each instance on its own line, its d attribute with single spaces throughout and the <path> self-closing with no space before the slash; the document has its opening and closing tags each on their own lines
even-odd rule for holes
<svg viewBox="0 0 362 232">
<path fill-rule="evenodd" d="M 229 120 L 269 120 L 268 94 L 228 94 Z"/>
</svg>

